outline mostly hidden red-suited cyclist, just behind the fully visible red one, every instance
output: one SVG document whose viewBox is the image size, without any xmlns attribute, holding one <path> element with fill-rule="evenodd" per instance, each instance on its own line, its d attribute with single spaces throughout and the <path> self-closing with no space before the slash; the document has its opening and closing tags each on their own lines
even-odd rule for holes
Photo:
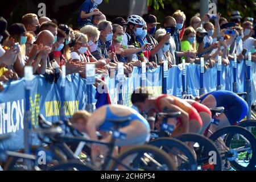
<svg viewBox="0 0 256 182">
<path fill-rule="evenodd" d="M 203 122 L 200 134 L 204 134 L 204 131 L 207 130 L 207 127 L 212 122 L 212 113 L 210 109 L 207 106 L 200 104 L 199 102 L 196 102 L 195 97 L 193 97 L 192 95 L 183 95 L 181 98 L 188 102 L 188 104 L 194 107 L 199 113 Z"/>
</svg>

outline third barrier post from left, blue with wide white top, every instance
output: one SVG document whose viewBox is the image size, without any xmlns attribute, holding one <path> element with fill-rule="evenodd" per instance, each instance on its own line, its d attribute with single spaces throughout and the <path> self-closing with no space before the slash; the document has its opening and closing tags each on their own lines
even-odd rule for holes
<svg viewBox="0 0 256 182">
<path fill-rule="evenodd" d="M 93 112 L 93 105 L 92 105 L 92 85 L 96 81 L 96 68 L 95 64 L 86 64 L 86 87 L 87 87 L 87 105 L 86 110 L 89 113 Z"/>
</svg>

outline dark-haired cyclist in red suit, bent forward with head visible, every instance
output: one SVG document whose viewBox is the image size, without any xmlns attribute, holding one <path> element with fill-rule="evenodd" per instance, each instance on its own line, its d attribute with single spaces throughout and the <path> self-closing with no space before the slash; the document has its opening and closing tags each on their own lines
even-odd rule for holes
<svg viewBox="0 0 256 182">
<path fill-rule="evenodd" d="M 172 136 L 183 133 L 199 133 L 202 127 L 200 115 L 196 109 L 184 100 L 174 96 L 163 94 L 162 96 L 151 96 L 145 88 L 136 89 L 131 95 L 131 102 L 138 107 L 138 110 L 144 113 L 154 111 L 180 111 L 181 115 L 177 119 L 168 119 L 168 124 L 174 126 Z M 159 121 L 156 121 L 158 125 Z M 156 127 L 158 127 L 156 125 Z"/>
</svg>

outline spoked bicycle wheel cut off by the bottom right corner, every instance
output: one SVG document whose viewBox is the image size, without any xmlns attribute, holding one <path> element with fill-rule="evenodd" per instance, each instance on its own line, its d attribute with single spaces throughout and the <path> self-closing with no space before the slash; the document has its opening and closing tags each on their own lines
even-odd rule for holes
<svg viewBox="0 0 256 182">
<path fill-rule="evenodd" d="M 210 139 L 216 142 L 220 137 L 224 138 L 225 145 L 229 149 L 220 153 L 225 154 L 225 160 L 229 160 L 234 169 L 255 170 L 256 139 L 253 134 L 240 126 L 228 126 L 216 131 Z M 242 158 L 243 156 L 246 160 Z"/>
</svg>

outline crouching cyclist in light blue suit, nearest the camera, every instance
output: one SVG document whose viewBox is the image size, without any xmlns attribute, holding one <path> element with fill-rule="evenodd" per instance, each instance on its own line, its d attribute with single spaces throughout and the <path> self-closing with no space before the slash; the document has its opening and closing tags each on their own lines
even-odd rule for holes
<svg viewBox="0 0 256 182">
<path fill-rule="evenodd" d="M 77 117 L 81 115 L 81 117 Z M 109 131 L 113 127 L 111 120 L 126 119 L 120 125 L 119 132 L 126 135 L 125 139 L 117 139 L 115 146 L 121 147 L 121 151 L 129 146 L 142 145 L 150 138 L 150 126 L 145 118 L 136 110 L 122 105 L 105 105 L 97 109 L 93 114 L 86 111 L 75 113 L 71 122 L 82 133 L 88 134 L 90 139 L 97 140 L 96 131 L 100 131 L 102 135 L 101 141 L 110 142 L 112 135 Z M 109 121 L 110 120 L 110 121 Z M 92 144 L 92 159 L 97 161 L 97 156 L 106 154 L 105 146 Z"/>
</svg>

